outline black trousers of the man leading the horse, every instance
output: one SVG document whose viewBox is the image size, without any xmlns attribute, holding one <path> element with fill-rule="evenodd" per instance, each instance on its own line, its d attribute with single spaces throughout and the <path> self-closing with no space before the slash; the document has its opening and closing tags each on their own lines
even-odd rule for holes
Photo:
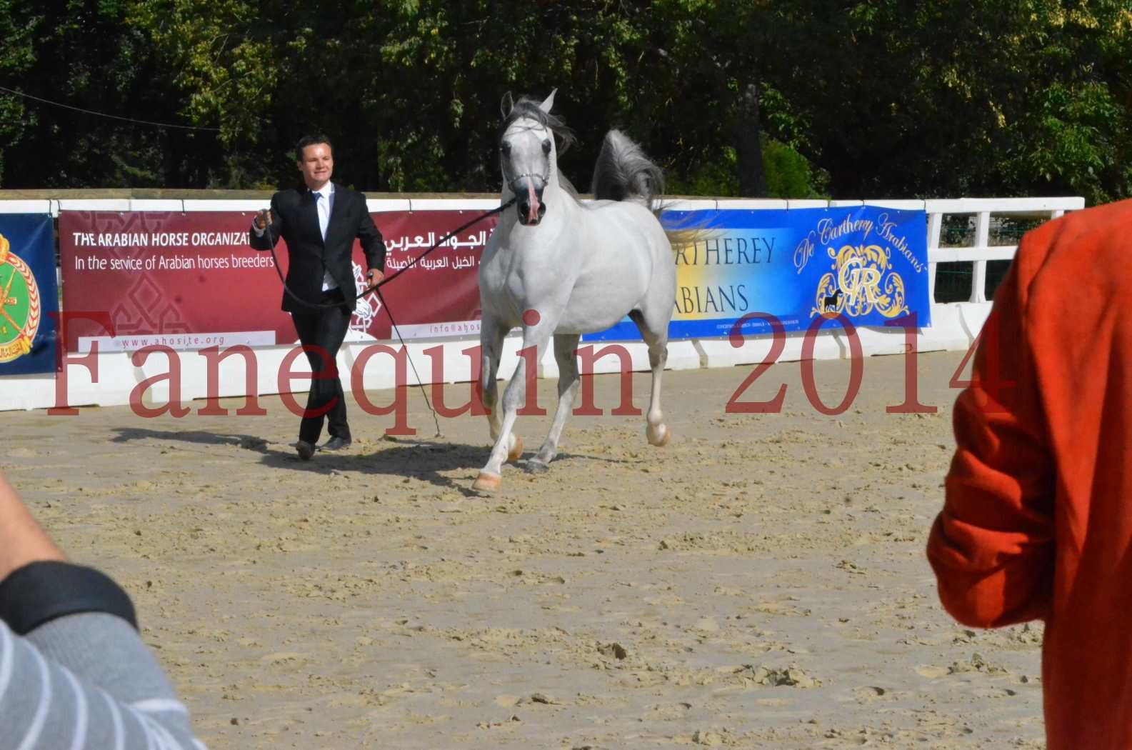
<svg viewBox="0 0 1132 750">
<path fill-rule="evenodd" d="M 323 292 L 321 302 L 333 305 L 343 300 L 340 289 Z M 345 306 L 325 309 L 299 308 L 291 312 L 291 319 L 299 333 L 299 341 L 307 350 L 307 361 L 312 374 L 334 372 L 334 377 L 324 380 L 311 378 L 310 393 L 307 397 L 307 409 L 299 424 L 299 440 L 310 444 L 318 443 L 323 433 L 323 423 L 327 421 L 331 437 L 350 441 L 350 425 L 346 423 L 346 400 L 342 392 L 342 380 L 337 373 L 335 360 L 342 341 L 350 329 L 352 310 Z"/>
</svg>

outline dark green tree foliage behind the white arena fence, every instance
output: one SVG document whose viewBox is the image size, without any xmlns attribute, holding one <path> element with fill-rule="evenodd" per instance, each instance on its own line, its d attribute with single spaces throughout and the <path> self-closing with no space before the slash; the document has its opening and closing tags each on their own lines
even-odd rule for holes
<svg viewBox="0 0 1132 750">
<path fill-rule="evenodd" d="M 0 187 L 272 188 L 323 131 L 349 185 L 495 191 L 503 95 L 557 87 L 583 190 L 619 127 L 674 191 L 735 195 L 754 153 L 780 197 L 1096 203 L 1132 190 L 1130 29 L 1123 0 L 0 0 Z"/>
</svg>

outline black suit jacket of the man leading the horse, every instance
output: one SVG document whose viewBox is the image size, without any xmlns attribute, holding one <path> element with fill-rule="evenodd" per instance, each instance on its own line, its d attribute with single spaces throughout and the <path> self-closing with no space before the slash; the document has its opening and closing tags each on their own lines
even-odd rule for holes
<svg viewBox="0 0 1132 750">
<path fill-rule="evenodd" d="M 289 256 L 286 285 L 307 302 L 319 304 L 323 296 L 323 274 L 329 271 L 343 296 L 349 300 L 355 293 L 353 275 L 353 241 L 361 240 L 368 269 L 385 272 L 385 240 L 374 224 L 366 207 L 366 196 L 341 185 L 334 185 L 334 205 L 326 227 L 326 241 L 318 228 L 318 208 L 315 195 L 306 187 L 281 190 L 272 196 L 272 223 L 263 237 L 248 230 L 248 244 L 257 250 L 268 250 L 283 238 Z M 367 270 L 368 270 L 367 269 Z M 346 302 L 351 309 L 354 302 Z M 283 309 L 303 310 L 291 295 L 283 290 Z"/>
</svg>

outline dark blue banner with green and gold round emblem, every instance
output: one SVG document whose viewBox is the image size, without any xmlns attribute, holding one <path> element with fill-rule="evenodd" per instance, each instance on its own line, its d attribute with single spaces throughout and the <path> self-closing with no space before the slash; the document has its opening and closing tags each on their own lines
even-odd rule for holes
<svg viewBox="0 0 1132 750">
<path fill-rule="evenodd" d="M 54 372 L 58 313 L 51 216 L 0 213 L 0 375 Z"/>
</svg>

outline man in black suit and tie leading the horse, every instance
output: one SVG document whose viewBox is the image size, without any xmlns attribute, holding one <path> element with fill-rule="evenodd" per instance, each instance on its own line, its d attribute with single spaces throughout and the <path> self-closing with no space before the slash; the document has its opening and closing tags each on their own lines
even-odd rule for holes
<svg viewBox="0 0 1132 750">
<path fill-rule="evenodd" d="M 272 196 L 271 210 L 264 208 L 252 220 L 248 242 L 254 249 L 268 250 L 280 237 L 286 241 L 283 309 L 291 313 L 299 341 L 309 347 L 307 359 L 316 376 L 310 381 L 295 444 L 299 458 L 308 461 L 315 454 L 324 417 L 331 437 L 319 450 L 342 450 L 352 441 L 335 358 L 355 304 L 353 241 L 361 240 L 370 287 L 384 276 L 385 241 L 369 215 L 366 196 L 331 182 L 334 155 L 325 136 L 299 140 L 295 160 L 303 187 Z M 312 307 L 319 305 L 326 307 Z"/>
</svg>

